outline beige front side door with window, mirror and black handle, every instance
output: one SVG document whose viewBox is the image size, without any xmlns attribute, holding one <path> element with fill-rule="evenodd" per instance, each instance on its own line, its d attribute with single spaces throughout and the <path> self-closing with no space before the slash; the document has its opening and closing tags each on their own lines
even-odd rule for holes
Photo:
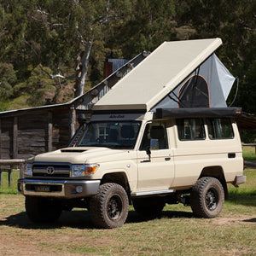
<svg viewBox="0 0 256 256">
<path fill-rule="evenodd" d="M 137 151 L 137 166 L 139 191 L 171 188 L 174 164 L 165 125 L 160 123 L 146 125 L 142 143 Z"/>
</svg>

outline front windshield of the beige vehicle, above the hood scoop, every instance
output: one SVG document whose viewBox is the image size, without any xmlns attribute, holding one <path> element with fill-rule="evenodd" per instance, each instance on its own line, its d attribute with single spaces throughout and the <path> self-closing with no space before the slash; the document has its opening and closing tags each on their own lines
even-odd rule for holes
<svg viewBox="0 0 256 256">
<path fill-rule="evenodd" d="M 139 121 L 92 122 L 86 125 L 77 147 L 134 148 Z"/>
</svg>

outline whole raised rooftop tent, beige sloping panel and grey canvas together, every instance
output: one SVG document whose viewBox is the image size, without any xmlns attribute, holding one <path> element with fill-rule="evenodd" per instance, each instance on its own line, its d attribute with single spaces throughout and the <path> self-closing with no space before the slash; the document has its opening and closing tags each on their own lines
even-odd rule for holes
<svg viewBox="0 0 256 256">
<path fill-rule="evenodd" d="M 93 109 L 225 108 L 235 78 L 214 54 L 221 44 L 220 38 L 161 44 Z"/>
</svg>

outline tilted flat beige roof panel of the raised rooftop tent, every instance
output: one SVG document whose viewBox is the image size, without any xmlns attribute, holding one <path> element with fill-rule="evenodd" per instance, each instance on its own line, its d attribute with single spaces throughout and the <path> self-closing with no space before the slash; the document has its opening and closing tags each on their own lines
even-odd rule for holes
<svg viewBox="0 0 256 256">
<path fill-rule="evenodd" d="M 93 109 L 153 108 L 221 44 L 220 38 L 164 42 L 115 84 Z"/>
</svg>

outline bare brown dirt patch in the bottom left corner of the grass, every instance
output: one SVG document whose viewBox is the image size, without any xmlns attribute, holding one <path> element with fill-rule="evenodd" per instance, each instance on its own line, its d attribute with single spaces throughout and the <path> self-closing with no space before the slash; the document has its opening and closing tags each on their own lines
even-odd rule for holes
<svg viewBox="0 0 256 256">
<path fill-rule="evenodd" d="M 81 255 L 73 253 L 74 247 L 106 247 L 113 243 L 109 237 L 90 238 L 82 236 L 83 230 L 73 233 L 67 230 L 21 230 L 9 227 L 8 234 L 0 235 L 1 255 Z M 61 236 L 62 235 L 62 236 Z M 89 249 L 90 250 L 90 249 Z"/>
</svg>

